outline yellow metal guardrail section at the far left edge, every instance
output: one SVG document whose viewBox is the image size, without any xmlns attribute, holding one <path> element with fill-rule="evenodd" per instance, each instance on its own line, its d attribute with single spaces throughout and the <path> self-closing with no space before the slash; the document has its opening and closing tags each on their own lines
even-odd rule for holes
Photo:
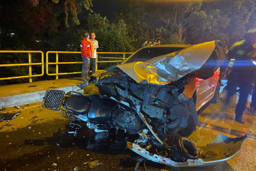
<svg viewBox="0 0 256 171">
<path fill-rule="evenodd" d="M 32 82 L 32 77 L 40 77 L 44 75 L 44 53 L 42 51 L 0 51 L 0 53 L 28 53 L 29 63 L 27 64 L 0 64 L 0 67 L 11 67 L 11 66 L 29 66 L 29 75 L 23 75 L 18 77 L 3 77 L 0 78 L 0 80 L 6 80 L 6 79 L 22 79 L 22 78 L 28 78 L 29 82 Z M 32 63 L 32 55 L 31 53 L 41 53 L 42 55 L 42 62 L 40 63 Z M 42 73 L 40 75 L 32 75 L 32 66 L 34 65 L 41 65 L 42 66 Z"/>
</svg>

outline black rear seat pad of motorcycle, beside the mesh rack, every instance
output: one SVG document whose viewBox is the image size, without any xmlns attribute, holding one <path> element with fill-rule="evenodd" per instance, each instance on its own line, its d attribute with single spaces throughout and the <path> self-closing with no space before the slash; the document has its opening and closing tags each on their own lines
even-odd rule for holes
<svg viewBox="0 0 256 171">
<path fill-rule="evenodd" d="M 78 114 L 88 114 L 90 109 L 90 98 L 86 96 L 66 97 L 64 107 Z"/>
</svg>

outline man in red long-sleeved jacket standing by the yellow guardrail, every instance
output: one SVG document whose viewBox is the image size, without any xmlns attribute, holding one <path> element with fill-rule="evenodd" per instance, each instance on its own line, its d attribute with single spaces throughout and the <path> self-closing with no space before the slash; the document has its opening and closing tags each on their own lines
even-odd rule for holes
<svg viewBox="0 0 256 171">
<path fill-rule="evenodd" d="M 92 57 L 92 48 L 90 44 L 89 34 L 86 32 L 84 34 L 83 40 L 81 40 L 81 59 L 83 60 L 83 66 L 81 68 L 81 79 L 87 81 L 89 79 L 89 65 L 90 58 Z"/>
</svg>

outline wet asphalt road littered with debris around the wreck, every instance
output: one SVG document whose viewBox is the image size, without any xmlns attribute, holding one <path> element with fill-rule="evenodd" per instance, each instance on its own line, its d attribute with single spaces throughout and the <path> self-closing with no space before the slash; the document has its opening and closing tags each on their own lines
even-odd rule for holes
<svg viewBox="0 0 256 171">
<path fill-rule="evenodd" d="M 202 145 L 212 142 L 220 133 L 234 137 L 252 131 L 251 137 L 244 142 L 242 150 L 235 157 L 218 165 L 198 168 L 173 168 L 147 161 L 146 168 L 255 170 L 256 116 L 246 111 L 245 124 L 234 122 L 235 101 L 234 96 L 225 114 L 220 111 L 221 101 L 204 107 L 199 114 L 201 124 L 190 135 L 197 145 Z M 0 112 L 6 111 L 21 111 L 21 114 L 13 120 L 0 122 L 0 170 L 133 170 L 136 164 L 134 153 L 125 148 L 126 144 L 122 141 L 95 144 L 92 141 L 95 133 L 89 129 L 81 129 L 76 136 L 68 133 L 71 131 L 69 121 L 62 117 L 60 111 L 49 111 L 42 108 L 40 103 L 29 104 L 24 109 L 12 107 Z M 144 170 L 144 166 L 140 165 L 138 169 Z"/>
</svg>

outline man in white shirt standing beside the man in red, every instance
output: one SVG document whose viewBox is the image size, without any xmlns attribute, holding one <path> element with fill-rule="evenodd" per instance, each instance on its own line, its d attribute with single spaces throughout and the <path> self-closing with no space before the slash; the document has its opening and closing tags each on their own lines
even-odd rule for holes
<svg viewBox="0 0 256 171">
<path fill-rule="evenodd" d="M 90 42 L 92 45 L 92 58 L 90 59 L 90 68 L 92 68 L 92 74 L 96 73 L 97 48 L 99 48 L 99 43 L 95 38 L 95 33 L 91 33 Z"/>
</svg>

